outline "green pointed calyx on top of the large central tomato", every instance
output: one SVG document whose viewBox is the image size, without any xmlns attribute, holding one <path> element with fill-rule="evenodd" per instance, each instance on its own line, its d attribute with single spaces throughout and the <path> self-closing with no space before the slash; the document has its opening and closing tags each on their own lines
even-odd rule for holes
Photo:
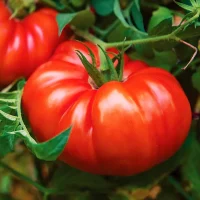
<svg viewBox="0 0 200 200">
<path fill-rule="evenodd" d="M 84 44 L 85 45 L 85 44 Z M 85 45 L 86 46 L 86 45 Z M 101 66 L 97 67 L 97 63 L 95 60 L 94 53 L 92 50 L 86 46 L 89 51 L 89 55 L 91 57 L 92 63 L 90 63 L 82 52 L 76 50 L 78 57 L 80 58 L 82 64 L 84 65 L 86 71 L 88 72 L 91 79 L 89 79 L 90 85 L 93 88 L 99 88 L 103 84 L 109 81 L 122 81 L 123 77 L 123 51 L 119 52 L 119 54 L 114 54 L 114 57 L 111 59 L 107 52 L 99 46 L 100 50 L 100 60 Z M 114 66 L 114 63 L 117 61 L 117 66 Z"/>
</svg>

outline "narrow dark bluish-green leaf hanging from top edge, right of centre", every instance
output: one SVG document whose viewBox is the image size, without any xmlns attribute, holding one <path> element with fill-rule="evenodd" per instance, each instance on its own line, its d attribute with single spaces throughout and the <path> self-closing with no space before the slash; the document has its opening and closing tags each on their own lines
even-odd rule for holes
<svg viewBox="0 0 200 200">
<path fill-rule="evenodd" d="M 139 30 L 145 32 L 143 16 L 140 12 L 140 1 L 139 0 L 134 1 L 133 6 L 131 8 L 131 14 L 132 14 L 132 17 L 134 19 L 134 22 L 135 22 L 137 28 Z"/>
</svg>

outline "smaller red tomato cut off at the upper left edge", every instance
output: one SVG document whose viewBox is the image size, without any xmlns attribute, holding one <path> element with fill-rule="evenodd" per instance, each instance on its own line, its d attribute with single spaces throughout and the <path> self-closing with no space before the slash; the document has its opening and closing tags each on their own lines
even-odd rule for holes
<svg viewBox="0 0 200 200">
<path fill-rule="evenodd" d="M 22 20 L 0 1 L 0 87 L 30 74 L 52 55 L 54 48 L 71 35 L 69 26 L 61 38 L 56 23 L 57 12 L 40 9 Z"/>
</svg>

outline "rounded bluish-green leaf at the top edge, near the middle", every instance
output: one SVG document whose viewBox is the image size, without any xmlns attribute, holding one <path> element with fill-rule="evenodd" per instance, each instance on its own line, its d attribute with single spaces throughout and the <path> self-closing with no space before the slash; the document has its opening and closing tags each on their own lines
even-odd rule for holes
<svg viewBox="0 0 200 200">
<path fill-rule="evenodd" d="M 113 12 L 113 4 L 115 0 L 91 0 L 97 14 L 107 16 Z"/>
</svg>

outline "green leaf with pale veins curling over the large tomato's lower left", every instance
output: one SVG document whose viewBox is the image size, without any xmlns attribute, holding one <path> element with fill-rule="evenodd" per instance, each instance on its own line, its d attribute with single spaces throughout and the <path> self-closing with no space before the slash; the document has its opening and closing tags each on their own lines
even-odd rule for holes
<svg viewBox="0 0 200 200">
<path fill-rule="evenodd" d="M 0 93 L 0 157 L 14 150 L 15 143 L 22 139 L 39 159 L 56 160 L 63 151 L 70 129 L 44 143 L 37 143 L 28 132 L 21 113 L 21 97 L 25 81 L 19 81 L 17 91 Z"/>
</svg>

